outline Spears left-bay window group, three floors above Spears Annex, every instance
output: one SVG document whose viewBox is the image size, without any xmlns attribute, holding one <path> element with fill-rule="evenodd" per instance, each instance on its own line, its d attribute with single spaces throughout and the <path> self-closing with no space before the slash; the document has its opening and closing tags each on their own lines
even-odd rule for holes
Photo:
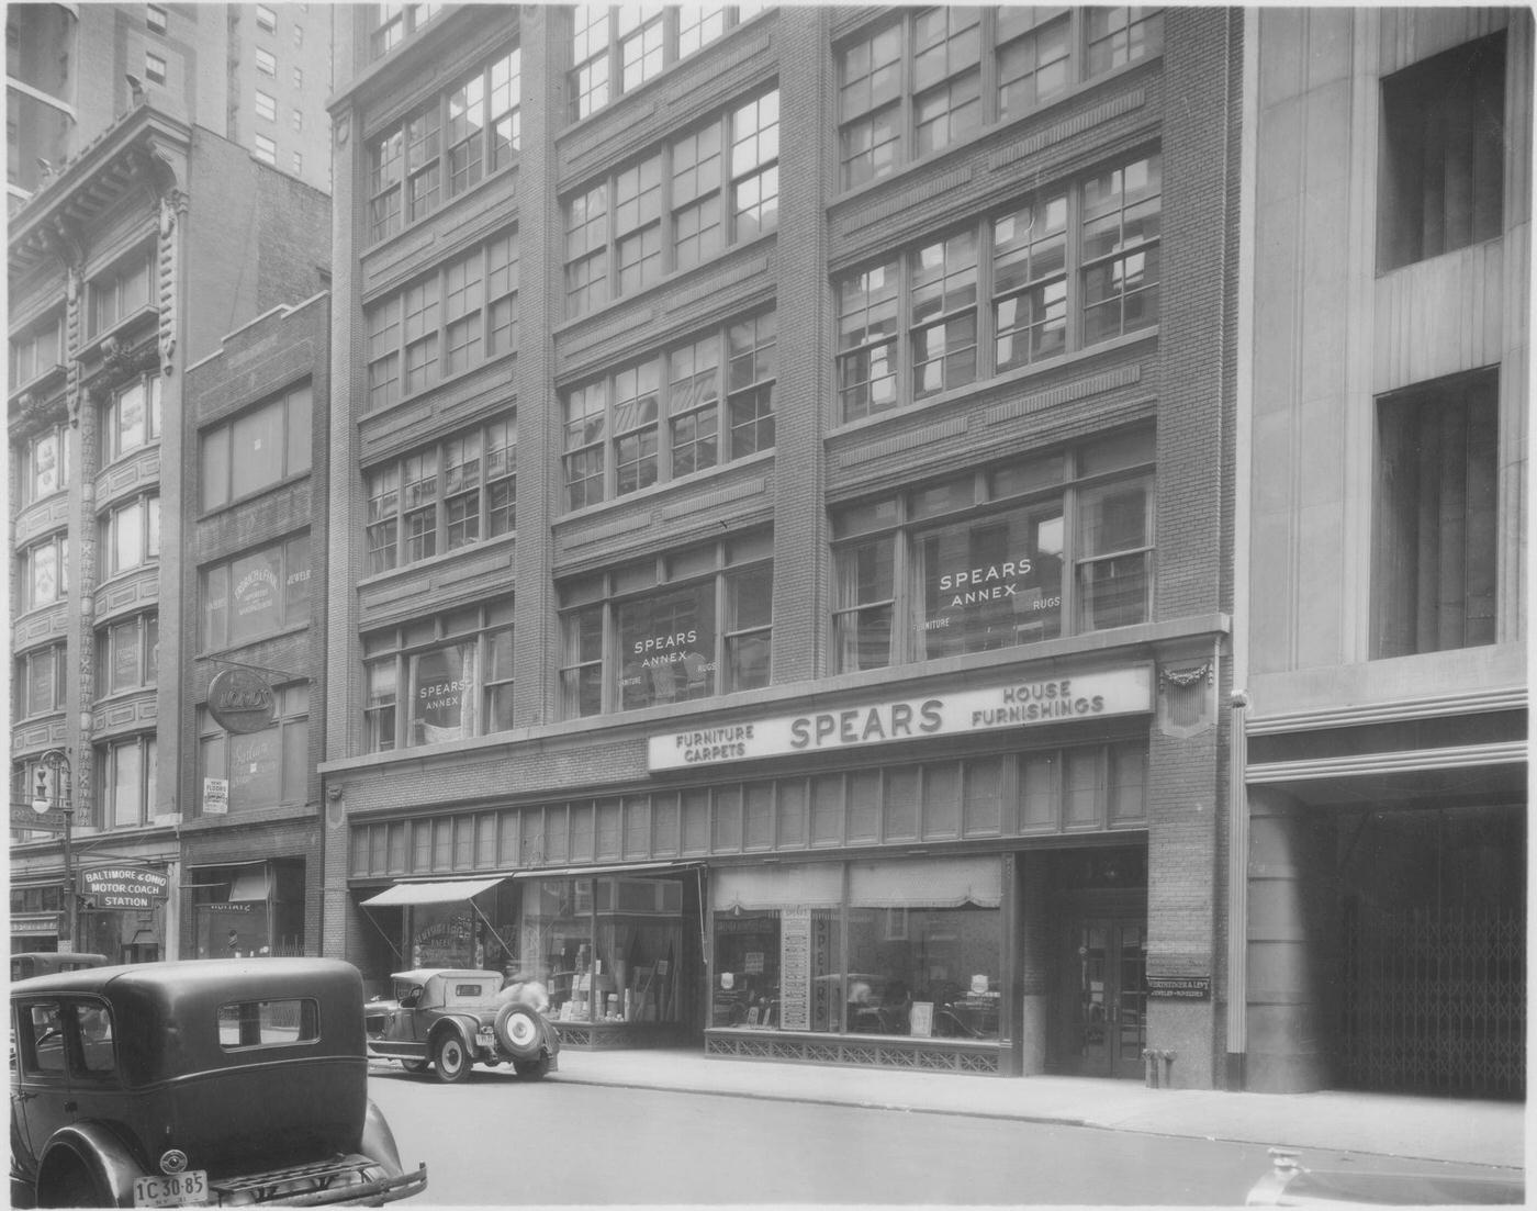
<svg viewBox="0 0 1537 1211">
<path fill-rule="evenodd" d="M 507 168 L 523 141 L 523 52 L 498 51 L 369 141 L 369 241 Z"/>
</svg>

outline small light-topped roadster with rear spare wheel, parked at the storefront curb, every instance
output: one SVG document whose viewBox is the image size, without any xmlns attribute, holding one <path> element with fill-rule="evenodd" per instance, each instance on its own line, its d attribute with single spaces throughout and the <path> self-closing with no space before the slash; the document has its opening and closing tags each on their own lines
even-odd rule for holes
<svg viewBox="0 0 1537 1211">
<path fill-rule="evenodd" d="M 495 971 L 460 968 L 397 971 L 390 979 L 395 999 L 366 1007 L 369 1054 L 400 1060 L 409 1073 L 430 1065 L 447 1082 L 463 1080 L 476 1063 L 510 1063 L 529 1080 L 558 1067 L 561 1040 L 543 1013 L 538 985 L 503 988 Z"/>
</svg>

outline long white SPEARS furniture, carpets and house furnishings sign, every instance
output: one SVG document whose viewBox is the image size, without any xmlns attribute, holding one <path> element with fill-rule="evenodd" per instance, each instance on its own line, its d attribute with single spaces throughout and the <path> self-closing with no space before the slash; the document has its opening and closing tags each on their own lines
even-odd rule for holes
<svg viewBox="0 0 1537 1211">
<path fill-rule="evenodd" d="M 1136 665 L 672 732 L 650 738 L 649 764 L 653 771 L 679 770 L 1150 710 L 1153 670 Z"/>
</svg>

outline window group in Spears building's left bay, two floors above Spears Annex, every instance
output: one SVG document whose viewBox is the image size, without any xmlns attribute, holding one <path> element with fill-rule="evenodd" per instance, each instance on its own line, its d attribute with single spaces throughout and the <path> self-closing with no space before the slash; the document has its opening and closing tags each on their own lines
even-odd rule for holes
<svg viewBox="0 0 1537 1211">
<path fill-rule="evenodd" d="M 518 237 L 504 232 L 367 306 L 367 410 L 518 347 Z"/>
</svg>

